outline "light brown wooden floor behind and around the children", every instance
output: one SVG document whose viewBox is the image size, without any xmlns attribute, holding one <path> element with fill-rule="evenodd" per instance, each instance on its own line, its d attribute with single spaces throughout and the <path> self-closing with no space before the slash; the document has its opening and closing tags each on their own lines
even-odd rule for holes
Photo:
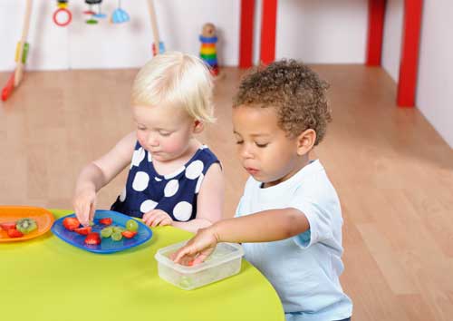
<svg viewBox="0 0 453 321">
<path fill-rule="evenodd" d="M 354 320 L 453 319 L 453 151 L 418 110 L 398 109 L 379 68 L 315 65 L 332 84 L 333 123 L 316 154 L 342 200 L 345 272 Z M 72 207 L 82 166 L 131 131 L 135 70 L 26 73 L 0 108 L 0 204 Z M 217 125 L 202 135 L 223 161 L 226 217 L 246 173 L 230 100 L 242 72 L 217 80 Z M 0 84 L 7 73 L 0 73 Z M 125 172 L 101 190 L 109 208 Z"/>
</svg>

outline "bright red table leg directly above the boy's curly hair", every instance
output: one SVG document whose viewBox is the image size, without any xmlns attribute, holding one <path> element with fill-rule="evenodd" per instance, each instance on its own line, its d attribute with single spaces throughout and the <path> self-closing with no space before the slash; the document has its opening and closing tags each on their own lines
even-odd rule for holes
<svg viewBox="0 0 453 321">
<path fill-rule="evenodd" d="M 277 0 L 263 0 L 260 60 L 267 64 L 275 61 L 275 27 Z"/>
</svg>

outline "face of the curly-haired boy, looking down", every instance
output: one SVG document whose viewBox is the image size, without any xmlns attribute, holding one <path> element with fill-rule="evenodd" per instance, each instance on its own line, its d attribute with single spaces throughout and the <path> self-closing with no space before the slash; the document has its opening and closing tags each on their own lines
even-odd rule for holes
<svg viewBox="0 0 453 321">
<path fill-rule="evenodd" d="M 237 156 L 246 171 L 265 187 L 289 179 L 304 164 L 297 154 L 297 137 L 291 139 L 278 127 L 275 108 L 241 105 L 233 109 Z"/>
</svg>

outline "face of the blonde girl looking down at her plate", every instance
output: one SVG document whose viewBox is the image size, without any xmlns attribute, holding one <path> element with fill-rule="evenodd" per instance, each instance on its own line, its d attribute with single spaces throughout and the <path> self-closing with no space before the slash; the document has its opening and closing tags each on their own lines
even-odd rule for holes
<svg viewBox="0 0 453 321">
<path fill-rule="evenodd" d="M 134 106 L 137 138 L 153 160 L 176 160 L 188 151 L 198 122 L 182 108 L 169 105 Z"/>
</svg>

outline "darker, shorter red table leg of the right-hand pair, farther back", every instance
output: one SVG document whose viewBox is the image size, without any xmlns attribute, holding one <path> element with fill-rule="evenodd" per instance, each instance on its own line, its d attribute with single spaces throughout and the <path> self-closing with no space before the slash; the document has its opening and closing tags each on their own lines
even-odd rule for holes
<svg viewBox="0 0 453 321">
<path fill-rule="evenodd" d="M 386 0 L 368 1 L 368 45 L 366 64 L 381 65 Z"/>
</svg>

